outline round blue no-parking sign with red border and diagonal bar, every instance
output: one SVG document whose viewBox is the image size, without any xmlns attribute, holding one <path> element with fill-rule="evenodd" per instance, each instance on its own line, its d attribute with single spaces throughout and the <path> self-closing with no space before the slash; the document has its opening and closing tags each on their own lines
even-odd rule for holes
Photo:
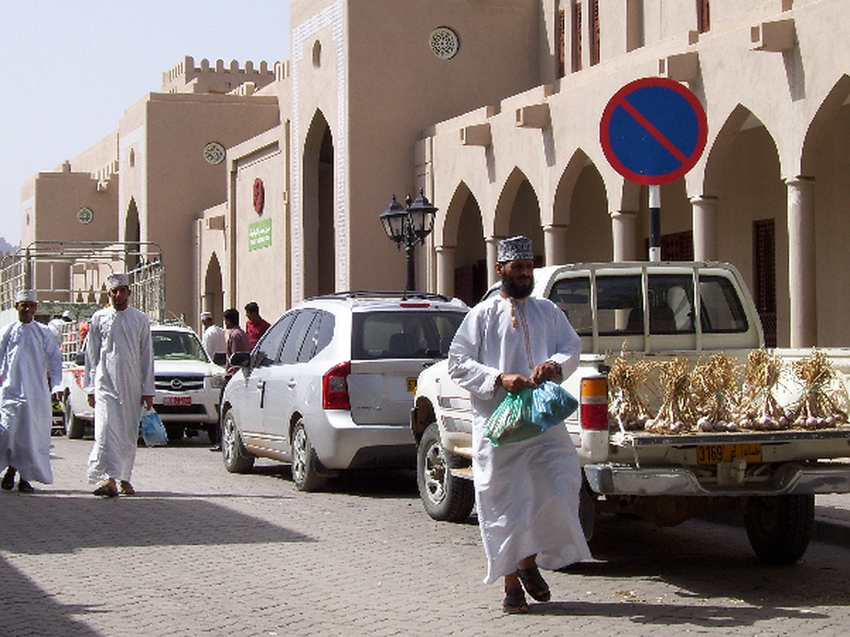
<svg viewBox="0 0 850 637">
<path fill-rule="evenodd" d="M 682 177 L 699 161 L 707 138 L 700 100 L 666 77 L 626 84 L 609 100 L 599 122 L 599 139 L 611 166 L 645 185 Z"/>
</svg>

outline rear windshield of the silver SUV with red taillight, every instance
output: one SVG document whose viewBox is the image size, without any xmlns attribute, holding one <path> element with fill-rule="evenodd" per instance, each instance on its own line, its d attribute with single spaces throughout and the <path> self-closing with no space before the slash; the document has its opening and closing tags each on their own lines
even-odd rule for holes
<svg viewBox="0 0 850 637">
<path fill-rule="evenodd" d="M 357 313 L 352 358 L 438 358 L 462 320 L 460 312 Z"/>
</svg>

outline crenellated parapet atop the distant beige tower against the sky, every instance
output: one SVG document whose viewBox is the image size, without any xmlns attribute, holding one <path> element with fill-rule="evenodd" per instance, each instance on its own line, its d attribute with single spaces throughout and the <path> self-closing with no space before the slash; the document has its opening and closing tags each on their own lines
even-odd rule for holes
<svg viewBox="0 0 850 637">
<path fill-rule="evenodd" d="M 222 59 L 210 65 L 206 58 L 201 59 L 201 65 L 195 66 L 195 59 L 187 55 L 178 65 L 162 73 L 162 93 L 230 93 L 247 82 L 253 84 L 252 90 L 263 88 L 275 82 L 275 68 L 269 68 L 265 61 L 254 68 L 251 60 L 240 66 L 235 59 L 228 66 Z"/>
</svg>

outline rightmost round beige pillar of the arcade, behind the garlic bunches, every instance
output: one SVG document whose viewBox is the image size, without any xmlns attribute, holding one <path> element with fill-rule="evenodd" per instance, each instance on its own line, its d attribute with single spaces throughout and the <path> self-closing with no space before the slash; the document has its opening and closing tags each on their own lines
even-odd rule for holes
<svg viewBox="0 0 850 637">
<path fill-rule="evenodd" d="M 788 189 L 791 347 L 812 347 L 818 342 L 814 270 L 814 179 L 786 179 L 785 187 Z"/>
</svg>

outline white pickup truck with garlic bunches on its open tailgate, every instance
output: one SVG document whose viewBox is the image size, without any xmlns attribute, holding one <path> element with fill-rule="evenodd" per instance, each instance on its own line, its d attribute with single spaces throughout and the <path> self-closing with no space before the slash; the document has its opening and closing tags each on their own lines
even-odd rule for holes
<svg viewBox="0 0 850 637">
<path fill-rule="evenodd" d="M 581 363 L 564 388 L 581 403 L 566 426 L 584 473 L 580 513 L 588 538 L 600 513 L 634 514 L 672 526 L 732 509 L 743 514 L 751 546 L 763 561 L 799 560 L 811 538 L 814 494 L 850 492 L 850 464 L 836 460 L 850 456 L 850 350 L 817 351 L 829 361 L 830 386 L 822 389 L 830 392 L 836 414 L 795 420 L 800 410 L 792 413 L 794 406 L 805 400 L 807 388 L 789 370 L 798 369 L 797 363 L 805 367 L 815 352 L 764 349 L 755 304 L 734 266 L 579 263 L 537 268 L 535 281 L 533 294 L 561 307 L 581 336 Z M 621 356 L 624 347 L 628 357 Z M 712 423 L 703 416 L 698 423 L 694 411 L 680 409 L 682 421 L 663 426 L 659 410 L 670 396 L 657 377 L 655 392 L 649 391 L 651 383 L 644 387 L 643 417 L 631 423 L 618 417 L 624 388 L 609 387 L 618 357 L 652 369 L 684 364 L 691 372 L 712 356 L 722 357 L 740 377 L 752 352 L 779 361 L 782 380 L 761 388 L 743 381 L 740 396 L 764 403 L 769 393 L 774 408 L 785 406 L 779 409 L 787 409 L 787 418 L 735 416 Z M 425 509 L 436 520 L 465 520 L 474 504 L 472 414 L 468 393 L 451 381 L 445 360 L 419 375 L 411 429 Z"/>
</svg>

